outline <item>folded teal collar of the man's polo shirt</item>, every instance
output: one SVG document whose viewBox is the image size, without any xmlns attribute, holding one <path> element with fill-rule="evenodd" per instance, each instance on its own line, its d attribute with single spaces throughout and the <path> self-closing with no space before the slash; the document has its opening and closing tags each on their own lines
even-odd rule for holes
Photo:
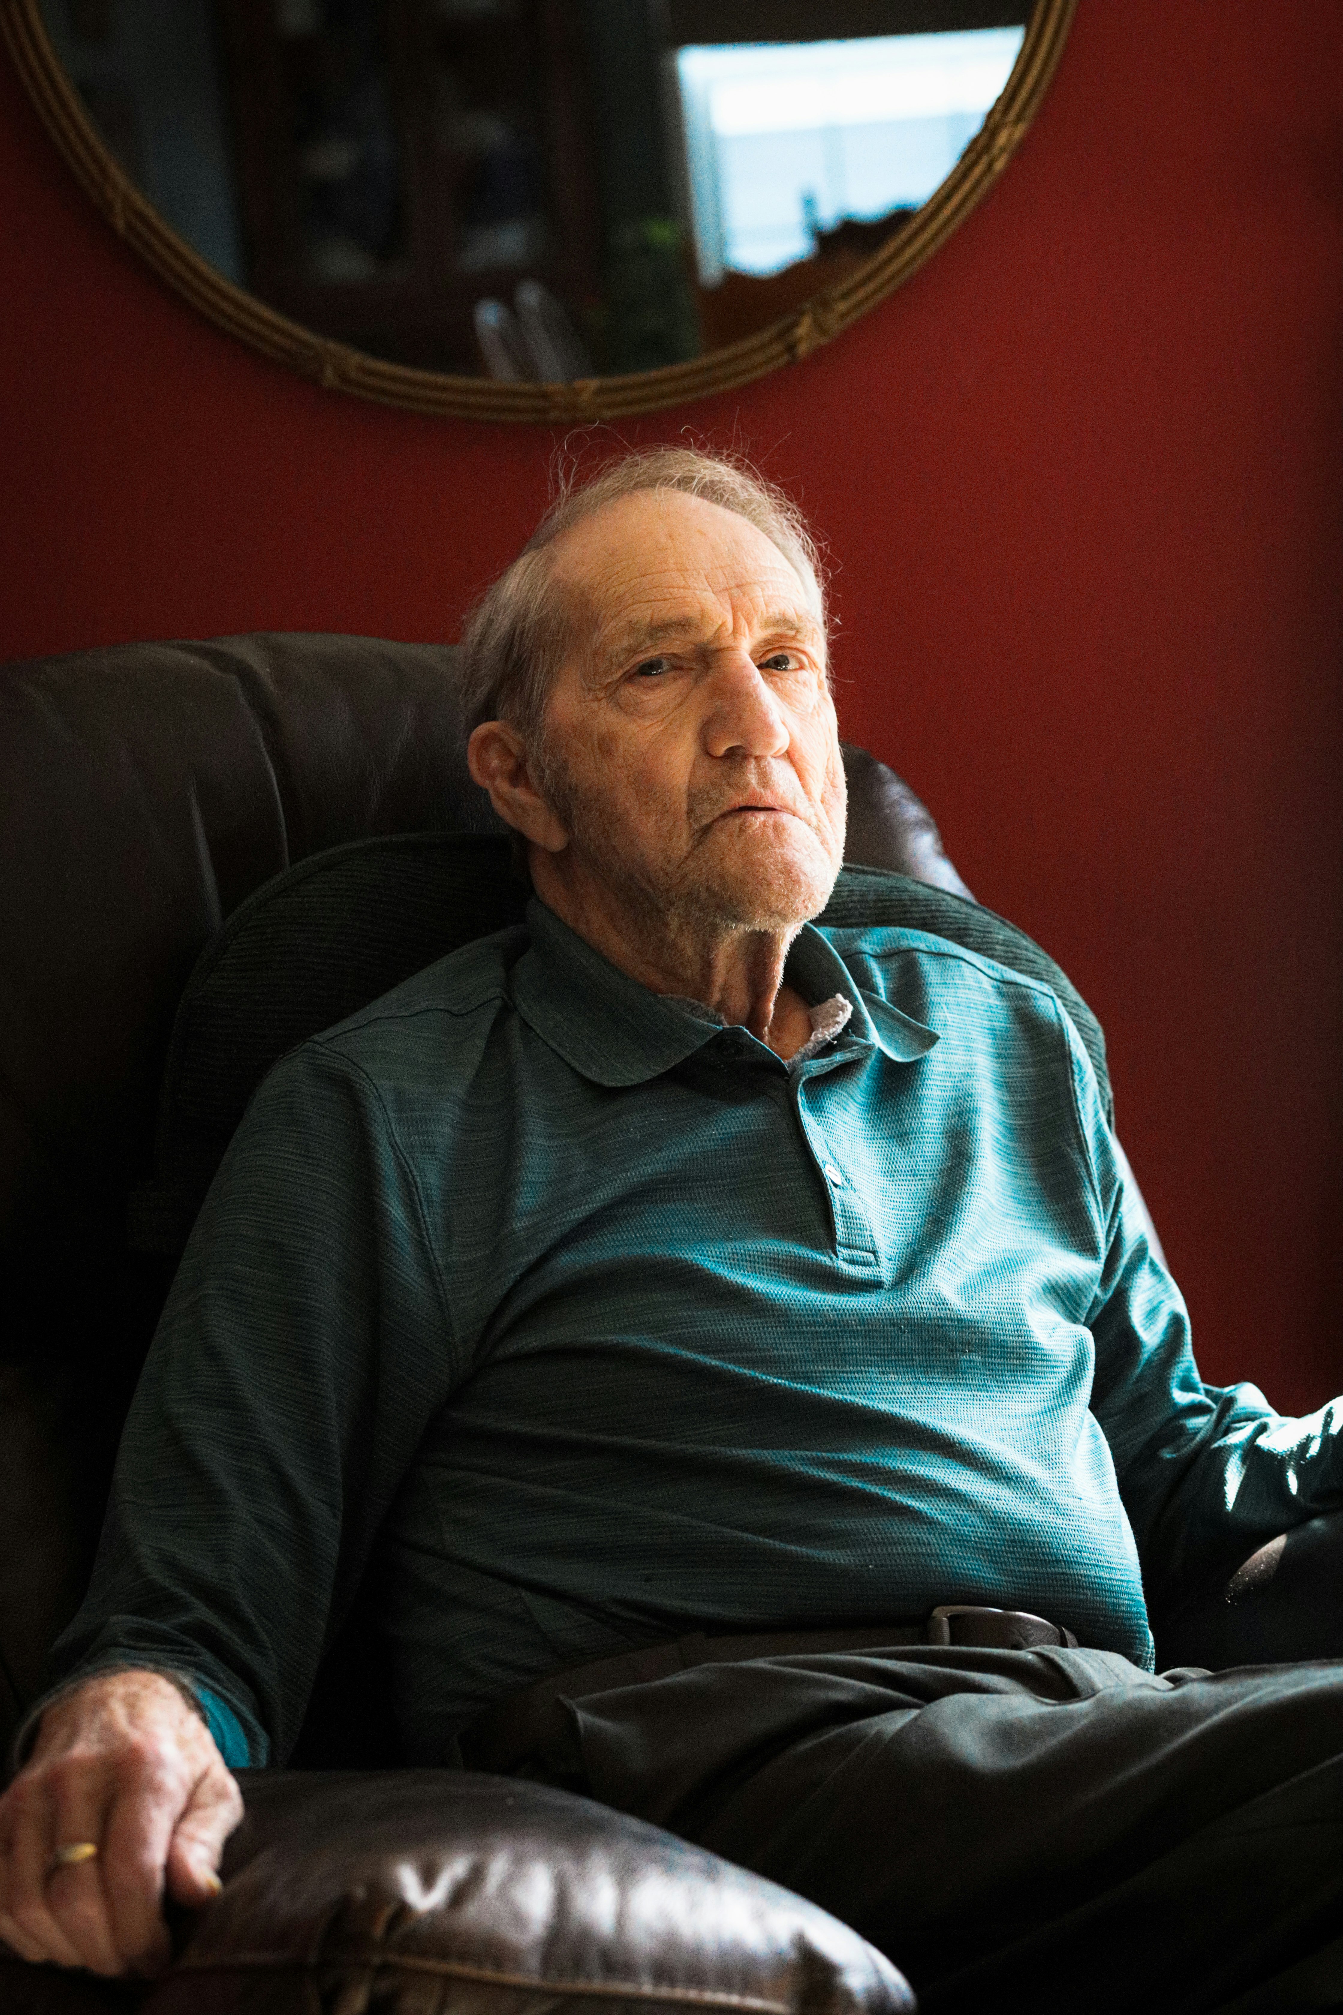
<svg viewBox="0 0 1343 2015">
<path fill-rule="evenodd" d="M 604 959 L 540 897 L 528 903 L 528 933 L 532 941 L 511 975 L 513 1005 L 542 1042 L 594 1084 L 644 1084 L 721 1034 L 721 1022 L 707 1012 L 652 993 Z M 862 993 L 840 953 L 809 923 L 787 955 L 785 975 L 805 1001 L 844 993 L 854 1003 L 840 1044 L 876 1044 L 908 1064 L 938 1040 L 922 1022 Z"/>
</svg>

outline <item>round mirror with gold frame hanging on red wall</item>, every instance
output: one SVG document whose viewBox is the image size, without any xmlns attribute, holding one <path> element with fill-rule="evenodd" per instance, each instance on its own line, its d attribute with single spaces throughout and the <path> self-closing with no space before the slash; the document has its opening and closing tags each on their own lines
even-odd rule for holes
<svg viewBox="0 0 1343 2015">
<path fill-rule="evenodd" d="M 8 0 L 113 224 L 326 385 L 604 419 L 880 300 L 1021 141 L 1075 0 Z"/>
</svg>

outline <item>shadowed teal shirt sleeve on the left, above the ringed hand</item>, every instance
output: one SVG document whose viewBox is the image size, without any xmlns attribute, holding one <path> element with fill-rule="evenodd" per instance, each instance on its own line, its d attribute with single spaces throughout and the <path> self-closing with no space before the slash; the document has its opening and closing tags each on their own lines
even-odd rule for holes
<svg viewBox="0 0 1343 2015">
<path fill-rule="evenodd" d="M 258 1090 L 191 1233 L 52 1681 L 171 1670 L 234 1761 L 284 1761 L 453 1384 L 413 1169 L 370 1080 L 308 1044 Z"/>
</svg>

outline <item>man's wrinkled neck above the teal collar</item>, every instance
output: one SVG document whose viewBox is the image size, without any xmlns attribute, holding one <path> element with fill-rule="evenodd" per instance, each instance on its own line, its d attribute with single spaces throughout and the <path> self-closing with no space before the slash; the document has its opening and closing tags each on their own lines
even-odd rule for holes
<svg viewBox="0 0 1343 2015">
<path fill-rule="evenodd" d="M 783 979 L 801 925 L 745 929 L 711 917 L 640 913 L 610 889 L 574 885 L 534 848 L 532 885 L 570 931 L 650 993 L 703 1001 L 725 1024 L 749 1028 L 777 1056 L 793 1056 L 811 1036 L 811 1012 Z"/>
</svg>

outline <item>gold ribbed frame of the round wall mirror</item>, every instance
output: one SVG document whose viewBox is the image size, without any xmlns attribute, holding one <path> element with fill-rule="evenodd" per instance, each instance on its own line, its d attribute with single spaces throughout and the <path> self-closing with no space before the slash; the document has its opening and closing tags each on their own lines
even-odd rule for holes
<svg viewBox="0 0 1343 2015">
<path fill-rule="evenodd" d="M 505 385 L 497 379 L 449 377 L 385 363 L 346 343 L 318 337 L 264 300 L 226 280 L 141 195 L 113 159 L 85 111 L 79 91 L 56 56 L 38 0 L 0 0 L 0 34 L 14 69 L 56 141 L 107 222 L 161 280 L 232 337 L 288 365 L 330 391 L 348 391 L 379 405 L 453 419 L 521 419 L 552 425 L 624 419 L 685 405 L 709 393 L 731 391 L 799 363 L 894 292 L 942 246 L 971 210 L 985 199 L 1039 111 L 1063 54 L 1077 0 L 1035 0 L 1025 40 L 1003 95 L 942 181 L 908 224 L 864 260 L 846 280 L 813 294 L 753 337 L 707 351 L 689 363 L 628 377 L 578 379 L 572 385 Z"/>
</svg>

